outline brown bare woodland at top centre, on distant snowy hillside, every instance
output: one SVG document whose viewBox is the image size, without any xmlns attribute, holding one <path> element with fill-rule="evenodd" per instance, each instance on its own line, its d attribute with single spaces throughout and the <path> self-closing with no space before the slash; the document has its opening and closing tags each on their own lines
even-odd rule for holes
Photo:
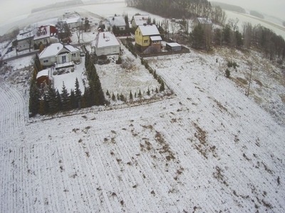
<svg viewBox="0 0 285 213">
<path fill-rule="evenodd" d="M 212 18 L 224 23 L 226 15 L 219 6 L 212 6 L 207 0 L 125 0 L 128 6 L 167 18 Z"/>
</svg>

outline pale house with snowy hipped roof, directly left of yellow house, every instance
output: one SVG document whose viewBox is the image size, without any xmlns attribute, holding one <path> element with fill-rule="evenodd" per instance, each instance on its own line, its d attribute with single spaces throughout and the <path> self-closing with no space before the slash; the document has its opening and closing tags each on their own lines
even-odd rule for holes
<svg viewBox="0 0 285 213">
<path fill-rule="evenodd" d="M 97 56 L 120 53 L 120 42 L 113 33 L 101 32 L 92 43 L 92 50 Z"/>
</svg>

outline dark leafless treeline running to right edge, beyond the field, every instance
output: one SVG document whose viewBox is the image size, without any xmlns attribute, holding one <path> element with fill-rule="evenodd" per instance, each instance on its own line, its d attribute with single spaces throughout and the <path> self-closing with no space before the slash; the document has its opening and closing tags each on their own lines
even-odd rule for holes
<svg viewBox="0 0 285 213">
<path fill-rule="evenodd" d="M 194 48 L 205 50 L 210 50 L 213 44 L 232 48 L 258 48 L 269 60 L 284 60 L 285 40 L 281 35 L 276 35 L 260 24 L 252 26 L 252 23 L 244 23 L 240 32 L 237 23 L 238 20 L 229 20 L 224 28 L 216 28 L 214 31 L 198 25 L 190 33 L 190 44 Z"/>
</svg>

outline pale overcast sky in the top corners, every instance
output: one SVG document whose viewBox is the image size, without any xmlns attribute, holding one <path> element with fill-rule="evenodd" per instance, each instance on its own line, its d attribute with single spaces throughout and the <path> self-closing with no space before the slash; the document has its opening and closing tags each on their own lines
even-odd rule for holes
<svg viewBox="0 0 285 213">
<path fill-rule="evenodd" d="M 31 12 L 31 9 L 64 0 L 0 0 L 0 26 L 7 18 L 21 16 Z M 88 0 L 83 0 L 88 1 Z M 227 4 L 242 6 L 284 19 L 285 0 L 215 0 Z"/>
</svg>

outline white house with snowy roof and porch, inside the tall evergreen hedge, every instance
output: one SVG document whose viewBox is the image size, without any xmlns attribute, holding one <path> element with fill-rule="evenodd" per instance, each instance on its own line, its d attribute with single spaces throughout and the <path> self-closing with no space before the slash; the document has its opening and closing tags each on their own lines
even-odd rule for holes
<svg viewBox="0 0 285 213">
<path fill-rule="evenodd" d="M 45 48 L 38 58 L 43 67 L 55 66 L 56 69 L 62 67 L 73 67 L 74 62 L 80 61 L 80 50 L 72 45 L 53 43 Z"/>
</svg>

